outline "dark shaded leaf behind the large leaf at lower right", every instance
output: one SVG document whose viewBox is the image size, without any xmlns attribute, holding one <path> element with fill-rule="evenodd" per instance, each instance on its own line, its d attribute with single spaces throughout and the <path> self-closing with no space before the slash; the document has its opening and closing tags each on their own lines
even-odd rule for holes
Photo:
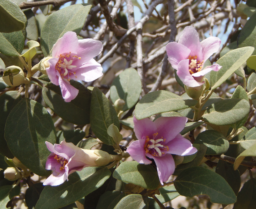
<svg viewBox="0 0 256 209">
<path fill-rule="evenodd" d="M 221 175 L 226 182 L 228 182 L 229 186 L 233 189 L 235 195 L 237 196 L 241 186 L 241 178 L 239 171 L 234 171 L 233 164 L 219 160 L 215 172 Z"/>
</svg>

